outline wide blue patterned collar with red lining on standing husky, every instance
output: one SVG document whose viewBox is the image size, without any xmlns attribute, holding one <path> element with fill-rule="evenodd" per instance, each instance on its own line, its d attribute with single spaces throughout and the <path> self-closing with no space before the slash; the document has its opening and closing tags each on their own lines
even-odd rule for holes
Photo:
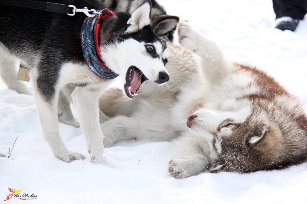
<svg viewBox="0 0 307 204">
<path fill-rule="evenodd" d="M 94 17 L 87 17 L 81 27 L 81 46 L 84 60 L 91 71 L 103 78 L 114 79 L 119 74 L 110 70 L 103 62 L 103 56 L 99 49 L 98 36 L 99 36 L 99 21 L 116 14 L 108 9 L 98 10 L 100 15 Z"/>
</svg>

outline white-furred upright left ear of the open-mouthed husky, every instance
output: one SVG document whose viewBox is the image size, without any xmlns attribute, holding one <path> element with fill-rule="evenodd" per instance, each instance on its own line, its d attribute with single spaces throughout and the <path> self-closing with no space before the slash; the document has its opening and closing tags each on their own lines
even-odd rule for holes
<svg viewBox="0 0 307 204">
<path fill-rule="evenodd" d="M 134 10 L 127 21 L 129 27 L 126 32 L 132 33 L 141 30 L 146 25 L 150 25 L 151 2 L 146 1 Z"/>
</svg>

